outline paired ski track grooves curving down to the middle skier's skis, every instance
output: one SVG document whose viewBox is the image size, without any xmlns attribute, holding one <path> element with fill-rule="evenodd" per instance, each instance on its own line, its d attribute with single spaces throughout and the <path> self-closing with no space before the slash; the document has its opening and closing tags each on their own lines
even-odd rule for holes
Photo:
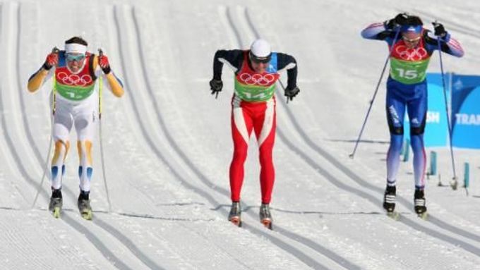
<svg viewBox="0 0 480 270">
<path fill-rule="evenodd" d="M 134 9 L 132 8 L 132 16 L 133 16 L 133 20 L 134 22 L 136 22 L 136 15 L 135 15 L 135 11 Z M 118 16 L 116 15 L 116 8 L 114 9 L 114 18 L 115 18 L 115 22 L 116 22 L 116 28 L 117 28 L 117 32 L 120 32 L 119 29 L 121 29 L 120 25 L 119 25 L 119 18 Z M 138 42 L 140 43 L 140 47 L 141 47 L 141 38 L 140 38 L 140 32 L 138 30 L 138 23 L 136 23 L 136 36 L 137 36 L 137 39 L 138 39 Z M 117 35 L 118 37 L 118 44 L 122 44 L 121 42 L 121 38 L 119 35 Z M 120 50 L 121 51 L 121 59 L 124 60 L 126 59 L 126 57 L 124 56 L 124 51 L 123 49 Z M 186 157 L 186 155 L 184 154 L 184 152 L 181 151 L 181 149 L 179 148 L 178 145 L 176 145 L 176 142 L 172 139 L 172 136 L 169 134 L 167 128 L 166 128 L 166 125 L 164 124 L 164 121 L 163 121 L 163 118 L 160 114 L 160 110 L 158 109 L 158 104 L 155 100 L 155 98 L 153 98 L 153 94 L 152 94 L 152 87 L 150 86 L 150 80 L 148 79 L 148 76 L 146 75 L 146 67 L 145 67 L 145 61 L 144 61 L 144 56 L 143 56 L 143 51 L 142 50 L 138 50 L 139 53 L 140 53 L 140 61 L 141 61 L 141 68 L 142 68 L 142 71 L 143 71 L 143 78 L 144 78 L 144 82 L 147 86 L 147 89 L 149 91 L 149 94 L 151 95 L 152 97 L 152 102 L 154 104 L 154 108 L 155 108 L 155 111 L 157 112 L 157 119 L 158 121 L 160 122 L 160 125 L 162 127 L 162 130 L 164 131 L 164 134 L 165 136 L 167 137 L 167 140 L 169 141 L 170 145 L 176 150 L 177 154 L 179 154 L 179 157 L 182 158 L 182 160 L 184 161 L 185 164 L 187 164 L 189 166 L 189 168 L 191 168 L 191 170 L 197 174 L 197 176 L 200 178 L 200 180 L 202 180 L 202 182 L 205 184 L 205 185 L 208 185 L 208 187 L 210 189 L 213 189 L 215 190 L 216 192 L 220 192 L 222 195 L 225 195 L 225 196 L 229 196 L 229 192 L 227 190 L 224 190 L 222 188 L 218 188 L 215 184 L 213 184 L 210 180 L 208 180 L 208 178 L 206 178 L 203 173 L 201 173 L 198 168 L 196 168 L 196 166 L 194 166 L 191 161 L 188 159 L 188 157 Z M 122 65 L 122 69 L 123 70 L 126 70 L 125 68 L 125 64 L 124 64 L 124 61 L 121 61 L 121 65 Z M 125 73 L 125 76 L 126 76 L 127 73 Z M 130 85 L 129 85 L 129 82 L 128 82 L 128 78 L 125 78 L 125 83 L 126 83 L 126 86 L 128 89 L 131 89 L 130 88 Z M 133 98 L 132 98 L 133 99 Z M 132 100 L 132 104 L 133 104 L 133 110 L 135 111 L 136 113 L 136 117 L 140 120 L 141 117 L 140 117 L 140 113 L 138 111 L 138 108 L 135 104 L 135 102 L 133 102 Z M 150 145 L 151 149 L 153 152 L 155 152 L 155 154 L 157 154 L 157 157 L 160 158 L 164 164 L 167 164 L 170 168 L 171 168 L 171 171 L 172 173 L 181 181 L 181 183 L 183 185 L 186 185 L 188 188 L 190 188 L 191 190 L 194 190 L 195 192 L 197 192 L 199 195 L 202 195 L 203 197 L 205 197 L 205 199 L 207 199 L 212 205 L 218 205 L 219 203 L 210 195 L 208 194 L 208 192 L 205 192 L 204 190 L 200 190 L 200 188 L 196 188 L 195 186 L 191 185 L 190 183 L 188 183 L 188 181 L 186 181 L 181 175 L 180 173 L 178 173 L 176 171 L 176 169 L 174 168 L 174 166 L 172 166 L 171 164 L 169 164 L 169 162 L 167 161 L 167 159 L 165 159 L 163 157 L 163 154 L 162 152 L 155 146 L 155 144 L 152 142 L 152 140 L 150 139 L 150 135 L 148 135 L 148 133 L 146 132 L 145 130 L 145 126 L 143 125 L 143 123 L 140 121 L 140 128 L 142 129 L 142 133 L 143 133 L 143 136 L 145 138 L 145 140 L 147 140 L 148 142 L 148 145 Z M 227 214 L 227 211 L 222 209 L 221 210 L 225 215 Z M 265 238 L 268 238 L 269 240 L 272 241 L 272 243 L 275 243 L 275 245 L 277 245 L 277 247 L 280 247 L 282 250 L 285 250 L 286 252 L 294 255 L 295 257 L 297 257 L 298 259 L 301 260 L 301 262 L 304 262 L 306 265 L 309 265 L 309 266 L 316 266 L 317 269 L 326 269 L 325 266 L 323 266 L 322 264 L 319 264 L 318 262 L 316 262 L 315 259 L 312 259 L 311 257 L 308 257 L 308 255 L 304 254 L 303 252 L 297 250 L 295 247 L 292 247 L 292 245 L 289 245 L 288 243 L 284 243 L 282 240 L 278 239 L 278 238 L 275 238 L 275 236 L 273 235 L 270 235 L 268 233 L 265 233 L 263 231 L 260 231 L 258 230 L 257 228 L 249 228 L 251 233 L 254 233 L 256 235 L 260 235 L 260 236 L 263 236 Z M 292 238 L 292 240 L 296 241 L 295 239 Z M 317 250 L 318 251 L 318 250 Z M 321 253 L 321 252 L 320 252 Z"/>
</svg>

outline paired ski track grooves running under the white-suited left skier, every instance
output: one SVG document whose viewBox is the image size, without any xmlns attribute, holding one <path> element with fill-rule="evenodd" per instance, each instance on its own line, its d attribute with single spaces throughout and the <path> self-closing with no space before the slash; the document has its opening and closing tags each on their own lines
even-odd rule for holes
<svg viewBox="0 0 480 270">
<path fill-rule="evenodd" d="M 21 90 L 23 87 L 22 87 L 22 82 L 21 82 L 21 78 L 20 78 L 20 30 L 21 30 L 21 27 L 20 27 L 20 6 L 18 8 L 18 14 L 17 14 L 17 19 L 18 19 L 18 25 L 17 25 L 17 46 L 16 46 L 16 78 L 17 78 L 17 86 L 18 86 L 18 90 Z M 19 92 L 19 91 L 18 91 Z M 28 125 L 28 118 L 26 117 L 26 114 L 25 114 L 25 102 L 23 100 L 23 96 L 21 94 L 20 95 L 20 106 L 21 106 L 21 109 L 23 109 L 23 121 L 24 121 L 24 125 L 23 125 L 23 128 L 25 129 L 25 133 L 27 134 L 27 137 L 28 137 L 28 144 L 30 146 L 32 146 L 33 149 L 35 149 L 35 157 L 37 157 L 37 161 L 40 163 L 40 166 L 44 167 L 43 166 L 43 162 L 42 161 L 42 157 L 41 157 L 41 154 L 40 154 L 40 150 L 37 148 L 37 145 L 35 145 L 35 142 L 33 140 L 33 137 L 32 137 L 32 133 L 31 133 L 31 130 L 30 130 L 30 125 Z M 3 101 L 1 100 L 1 93 L 0 93 L 0 104 L 3 104 Z M 4 117 L 4 115 L 2 114 L 2 118 Z M 4 125 L 4 121 L 2 121 L 2 125 Z M 3 127 L 4 130 L 6 130 L 6 127 Z M 8 137 L 9 139 L 9 137 Z M 11 141 L 11 139 L 10 139 Z M 9 142 L 8 145 L 10 146 L 11 143 Z M 13 151 L 14 152 L 14 151 Z M 14 152 L 15 155 L 17 156 L 16 152 Z M 18 162 L 18 160 L 16 160 L 16 163 L 17 164 L 21 164 L 20 162 Z M 26 170 L 25 168 L 23 168 L 22 166 L 22 170 L 25 171 L 26 173 Z M 25 176 L 25 175 L 24 175 Z M 35 180 L 32 180 L 32 178 L 26 178 L 29 180 L 29 182 L 32 184 L 32 185 L 35 185 L 37 184 L 37 186 L 35 188 L 39 188 L 38 185 L 40 185 L 40 183 L 36 183 Z M 42 190 L 42 197 L 44 197 L 46 200 L 49 200 L 49 195 L 47 193 L 47 191 L 45 190 Z M 74 198 L 75 195 L 73 193 L 73 191 L 71 191 L 69 188 L 67 187 L 64 187 L 62 188 L 62 190 L 66 190 L 67 193 L 69 193 L 69 197 L 72 197 Z M 102 240 L 100 240 L 99 238 L 97 238 L 97 236 L 95 235 L 95 233 L 92 233 L 92 231 L 88 230 L 88 228 L 80 225 L 80 223 L 74 221 L 73 219 L 64 219 L 63 217 L 66 216 L 66 213 L 64 212 L 64 214 L 62 215 L 62 220 L 65 221 L 66 223 L 68 223 L 68 225 L 71 226 L 71 228 L 74 228 L 76 229 L 76 231 L 78 231 L 79 233 L 85 235 L 85 237 L 90 240 L 90 243 L 92 243 L 92 245 L 94 245 L 95 247 L 97 247 L 97 250 L 100 251 L 100 253 L 102 253 L 102 255 L 105 257 L 105 259 L 107 259 L 108 262 L 110 262 L 113 266 L 116 266 L 117 268 L 119 269 L 131 269 L 129 266 L 127 266 L 124 262 L 121 261 L 121 259 L 119 257 L 116 257 L 115 254 L 113 252 L 111 252 L 109 250 L 109 248 L 104 245 L 102 243 Z M 96 218 L 97 219 L 97 218 Z M 99 221 L 97 223 L 97 226 L 99 226 L 100 228 L 102 228 L 105 232 L 109 233 L 109 235 L 112 235 L 114 238 L 116 238 L 117 240 L 119 240 L 120 243 L 131 243 L 130 240 L 128 240 L 128 238 L 119 233 L 119 231 L 116 231 L 116 230 L 111 230 L 112 226 L 107 226 L 107 223 L 103 222 L 103 221 Z M 112 231 L 114 231 L 115 233 L 112 233 Z M 125 244 L 124 244 L 125 245 Z M 148 265 L 149 267 L 151 267 L 152 265 L 155 266 L 154 269 L 162 269 L 160 266 L 157 266 L 155 264 L 152 264 L 150 260 L 145 260 L 145 255 L 140 252 L 140 250 L 138 250 L 138 248 L 131 244 L 131 245 L 125 245 L 125 247 L 130 250 L 132 252 L 132 254 L 137 257 L 138 259 L 140 259 L 141 262 L 143 262 L 145 265 Z"/>
</svg>

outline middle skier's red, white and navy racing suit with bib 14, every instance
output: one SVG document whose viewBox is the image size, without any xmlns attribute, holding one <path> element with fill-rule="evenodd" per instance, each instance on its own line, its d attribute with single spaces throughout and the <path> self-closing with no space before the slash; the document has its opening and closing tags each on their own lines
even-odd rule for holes
<svg viewBox="0 0 480 270">
<path fill-rule="evenodd" d="M 292 56 L 274 52 L 267 70 L 258 73 L 251 67 L 248 51 L 219 50 L 213 61 L 215 80 L 222 79 L 223 63 L 227 63 L 235 73 L 231 116 L 234 154 L 229 170 L 231 199 L 233 202 L 240 201 L 248 140 L 254 130 L 260 154 L 262 203 L 268 204 L 275 181 L 272 161 L 276 128 L 275 82 L 280 78 L 278 73 L 287 69 L 288 85 L 295 87 L 296 61 Z"/>
</svg>

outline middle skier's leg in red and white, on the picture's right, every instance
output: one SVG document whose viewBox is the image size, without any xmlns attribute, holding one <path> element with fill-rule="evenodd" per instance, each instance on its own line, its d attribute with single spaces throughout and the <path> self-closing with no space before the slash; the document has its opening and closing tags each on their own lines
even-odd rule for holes
<svg viewBox="0 0 480 270">
<path fill-rule="evenodd" d="M 262 203 L 269 204 L 272 198 L 273 184 L 275 182 L 275 168 L 273 166 L 272 150 L 275 144 L 276 129 L 275 99 L 265 102 L 258 116 L 253 120 L 259 147 L 260 159 L 260 190 Z"/>
</svg>

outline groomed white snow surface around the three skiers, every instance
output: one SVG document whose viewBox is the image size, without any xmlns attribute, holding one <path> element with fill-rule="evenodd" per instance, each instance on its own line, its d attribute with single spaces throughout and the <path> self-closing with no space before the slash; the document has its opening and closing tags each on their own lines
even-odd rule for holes
<svg viewBox="0 0 480 270">
<path fill-rule="evenodd" d="M 462 43 L 462 59 L 443 57 L 447 71 L 478 72 L 474 0 L 0 1 L 0 269 L 480 269 L 478 151 L 455 149 L 461 181 L 464 162 L 471 166 L 467 197 L 448 186 L 449 150 L 428 149 L 438 152 L 441 175 L 428 180 L 428 221 L 413 213 L 412 165 L 402 164 L 402 218 L 385 216 L 384 80 L 355 159 L 348 157 L 388 54 L 360 31 L 401 11 L 426 25 L 438 19 Z M 76 210 L 76 149 L 67 159 L 64 215 L 47 211 L 51 84 L 26 90 L 52 47 L 73 35 L 90 51 L 102 47 L 126 86 L 121 99 L 104 92 L 105 171 L 99 139 L 93 221 Z M 299 63 L 299 96 L 289 104 L 277 96 L 274 231 L 258 222 L 253 139 L 245 226 L 227 222 L 227 66 L 218 99 L 208 86 L 215 50 L 247 48 L 258 36 Z M 429 71 L 440 71 L 438 53 Z"/>
</svg>

